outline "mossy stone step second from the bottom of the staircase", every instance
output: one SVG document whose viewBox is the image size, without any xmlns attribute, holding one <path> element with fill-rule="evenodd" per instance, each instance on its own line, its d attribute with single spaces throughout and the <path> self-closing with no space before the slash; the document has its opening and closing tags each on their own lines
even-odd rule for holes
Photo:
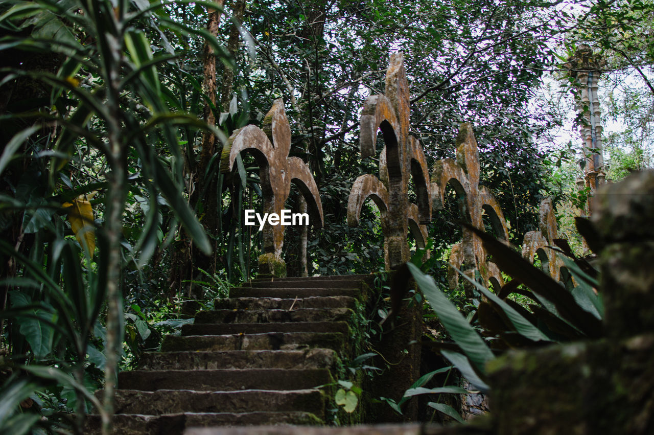
<svg viewBox="0 0 654 435">
<path fill-rule="evenodd" d="M 103 394 L 103 391 L 96 392 Z M 249 413 L 303 411 L 324 419 L 324 394 L 320 390 L 116 390 L 118 414 L 162 415 L 176 413 Z"/>
</svg>

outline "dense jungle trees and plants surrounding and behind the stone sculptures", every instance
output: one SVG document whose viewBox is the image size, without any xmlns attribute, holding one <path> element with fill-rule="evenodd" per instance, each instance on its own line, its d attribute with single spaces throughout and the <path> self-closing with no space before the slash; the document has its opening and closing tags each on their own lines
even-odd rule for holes
<svg viewBox="0 0 654 435">
<path fill-rule="evenodd" d="M 286 230 L 289 275 L 383 270 L 375 209 L 360 228 L 345 218 L 354 179 L 377 171 L 359 157 L 358 117 L 383 93 L 390 52 L 404 52 L 428 163 L 453 157 L 472 122 L 511 241 L 551 196 L 580 247 L 563 64 L 579 43 L 606 60 L 608 176 L 651 167 L 653 16 L 650 0 L 1 1 L 0 428 L 109 419 L 118 370 L 256 275 L 261 237 L 242 211 L 261 207 L 258 167 L 244 157 L 221 173 L 220 152 L 278 97 L 328 229 L 306 235 L 307 258 L 301 228 Z M 429 228 L 443 289 L 461 237 L 450 193 Z"/>
</svg>

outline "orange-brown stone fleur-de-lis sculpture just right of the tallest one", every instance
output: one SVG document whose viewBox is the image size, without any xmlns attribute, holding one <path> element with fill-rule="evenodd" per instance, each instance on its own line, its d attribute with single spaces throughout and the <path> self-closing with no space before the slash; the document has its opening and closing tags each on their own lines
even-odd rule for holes
<svg viewBox="0 0 654 435">
<path fill-rule="evenodd" d="M 432 171 L 431 194 L 434 210 L 443 208 L 445 188 L 448 185 L 454 188 L 458 196 L 461 220 L 475 228 L 483 229 L 485 213 L 490 218 L 495 234 L 508 243 L 506 220 L 500 205 L 485 186 L 479 186 L 479 150 L 472 133 L 472 124 L 468 122 L 459 126 L 456 137 L 456 162 L 451 158 L 439 160 Z M 492 279 L 496 285 L 504 284 L 498 267 L 487 262 L 481 240 L 467 228 L 463 228 L 461 243 L 452 247 L 449 262 L 457 268 L 462 268 L 471 278 L 474 278 L 474 271 L 478 270 L 485 282 Z M 455 288 L 458 285 L 458 273 L 450 270 L 448 281 L 450 287 Z"/>
</svg>

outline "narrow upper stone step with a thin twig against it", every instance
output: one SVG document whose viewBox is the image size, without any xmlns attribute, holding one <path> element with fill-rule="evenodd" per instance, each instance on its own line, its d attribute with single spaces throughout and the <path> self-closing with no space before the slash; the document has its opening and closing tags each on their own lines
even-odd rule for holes
<svg viewBox="0 0 654 435">
<path fill-rule="evenodd" d="M 228 298 L 216 299 L 215 309 L 290 309 L 293 308 L 354 308 L 349 296 L 311 296 L 308 298 Z"/>
</svg>

